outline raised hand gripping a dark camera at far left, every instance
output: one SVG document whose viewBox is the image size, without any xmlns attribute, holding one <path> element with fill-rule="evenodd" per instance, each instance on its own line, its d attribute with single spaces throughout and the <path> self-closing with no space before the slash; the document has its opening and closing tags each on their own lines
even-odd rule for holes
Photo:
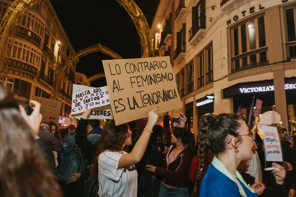
<svg viewBox="0 0 296 197">
<path fill-rule="evenodd" d="M 29 104 L 34 107 L 34 111 L 30 116 L 27 115 L 23 106 L 19 106 L 21 115 L 27 122 L 27 124 L 31 127 L 33 134 L 35 137 L 38 136 L 40 123 L 42 120 L 42 115 L 40 114 L 40 103 L 36 100 L 30 100 Z"/>
</svg>

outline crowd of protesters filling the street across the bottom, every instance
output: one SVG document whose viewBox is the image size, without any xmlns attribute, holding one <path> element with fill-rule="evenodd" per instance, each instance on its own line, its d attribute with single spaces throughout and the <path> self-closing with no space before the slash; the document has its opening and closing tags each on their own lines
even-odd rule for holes
<svg viewBox="0 0 296 197">
<path fill-rule="evenodd" d="M 168 113 L 115 125 L 80 120 L 59 130 L 0 88 L 1 197 L 296 197 L 296 132 L 277 127 L 283 163 L 265 162 L 257 126 L 204 115 L 198 136 Z M 265 171 L 266 167 L 275 167 Z"/>
</svg>

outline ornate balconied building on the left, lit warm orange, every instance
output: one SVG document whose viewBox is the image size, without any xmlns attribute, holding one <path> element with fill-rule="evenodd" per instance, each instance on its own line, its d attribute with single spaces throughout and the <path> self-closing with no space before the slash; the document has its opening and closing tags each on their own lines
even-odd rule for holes
<svg viewBox="0 0 296 197">
<path fill-rule="evenodd" d="M 0 20 L 12 2 L 0 0 Z M 2 70 L 7 74 L 0 83 L 22 104 L 27 104 L 33 96 L 50 99 L 61 66 L 75 56 L 50 0 L 42 0 L 25 13 L 9 47 L 9 62 Z M 57 97 L 63 102 L 61 116 L 68 117 L 71 113 L 75 66 L 76 63 L 68 68 Z"/>
</svg>

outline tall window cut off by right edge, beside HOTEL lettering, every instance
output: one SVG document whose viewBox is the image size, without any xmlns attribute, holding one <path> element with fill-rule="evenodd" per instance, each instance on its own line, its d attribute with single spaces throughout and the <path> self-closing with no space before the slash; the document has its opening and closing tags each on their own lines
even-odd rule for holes
<svg viewBox="0 0 296 197">
<path fill-rule="evenodd" d="M 296 8 L 289 8 L 285 11 L 286 14 L 286 51 L 287 59 L 296 58 Z"/>
</svg>

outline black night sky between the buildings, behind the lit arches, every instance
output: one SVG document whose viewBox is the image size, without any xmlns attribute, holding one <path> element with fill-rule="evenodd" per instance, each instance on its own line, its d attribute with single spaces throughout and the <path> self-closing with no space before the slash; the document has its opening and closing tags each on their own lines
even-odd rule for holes
<svg viewBox="0 0 296 197">
<path fill-rule="evenodd" d="M 135 2 L 151 27 L 159 0 Z M 52 0 L 52 4 L 76 52 L 101 43 L 124 59 L 141 57 L 138 32 L 125 9 L 116 0 Z M 102 53 L 89 54 L 79 60 L 76 71 L 87 77 L 104 72 L 102 60 L 110 59 Z M 93 87 L 105 85 L 105 78 L 91 83 Z"/>
</svg>

